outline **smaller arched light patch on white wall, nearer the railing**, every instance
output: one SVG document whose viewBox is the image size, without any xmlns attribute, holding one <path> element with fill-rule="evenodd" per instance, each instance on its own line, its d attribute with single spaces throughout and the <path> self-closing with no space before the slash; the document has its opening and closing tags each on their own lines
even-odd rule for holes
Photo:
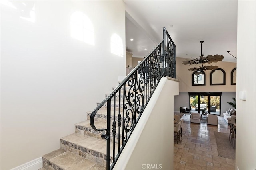
<svg viewBox="0 0 256 170">
<path fill-rule="evenodd" d="M 113 34 L 111 36 L 110 45 L 111 45 L 110 48 L 111 48 L 112 54 L 118 55 L 120 57 L 124 57 L 123 42 L 119 35 Z"/>
</svg>

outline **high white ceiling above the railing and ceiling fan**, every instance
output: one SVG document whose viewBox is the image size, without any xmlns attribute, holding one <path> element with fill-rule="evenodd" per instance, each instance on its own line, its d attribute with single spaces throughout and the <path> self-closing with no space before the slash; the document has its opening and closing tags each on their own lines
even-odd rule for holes
<svg viewBox="0 0 256 170">
<path fill-rule="evenodd" d="M 222 61 L 236 62 L 232 57 L 237 57 L 236 0 L 124 2 L 126 50 L 133 57 L 146 57 L 162 41 L 165 27 L 176 45 L 176 57 L 198 58 L 201 54 L 200 41 L 204 41 L 202 54 L 205 56 L 219 54 L 224 56 Z"/>
</svg>

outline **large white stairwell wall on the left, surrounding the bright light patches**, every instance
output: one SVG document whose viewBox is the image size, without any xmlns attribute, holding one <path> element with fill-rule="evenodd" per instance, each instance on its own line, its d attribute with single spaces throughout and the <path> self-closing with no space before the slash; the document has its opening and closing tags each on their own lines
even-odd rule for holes
<svg viewBox="0 0 256 170">
<path fill-rule="evenodd" d="M 1 5 L 1 169 L 60 147 L 125 75 L 125 57 L 110 53 L 118 34 L 125 56 L 122 1 L 26 1 L 35 22 Z M 70 15 L 81 11 L 94 26 L 95 45 L 70 37 Z"/>
</svg>

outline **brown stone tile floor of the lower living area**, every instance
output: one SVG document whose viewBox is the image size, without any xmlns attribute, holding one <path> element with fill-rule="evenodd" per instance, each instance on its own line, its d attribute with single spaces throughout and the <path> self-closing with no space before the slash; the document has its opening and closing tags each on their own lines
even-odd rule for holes
<svg viewBox="0 0 256 170">
<path fill-rule="evenodd" d="M 191 123 L 182 117 L 182 141 L 174 139 L 174 170 L 234 170 L 235 160 L 218 156 L 214 131 L 229 133 L 229 125 Z"/>
</svg>

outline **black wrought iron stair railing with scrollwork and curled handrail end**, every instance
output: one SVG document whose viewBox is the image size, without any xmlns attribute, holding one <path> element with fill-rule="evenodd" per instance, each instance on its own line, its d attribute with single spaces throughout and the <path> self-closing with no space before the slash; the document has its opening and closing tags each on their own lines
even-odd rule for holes
<svg viewBox="0 0 256 170">
<path fill-rule="evenodd" d="M 106 169 L 112 170 L 156 86 L 163 76 L 176 78 L 175 44 L 164 28 L 164 39 L 92 112 L 90 125 L 107 140 Z M 106 129 L 97 129 L 94 118 L 106 109 Z"/>
</svg>

